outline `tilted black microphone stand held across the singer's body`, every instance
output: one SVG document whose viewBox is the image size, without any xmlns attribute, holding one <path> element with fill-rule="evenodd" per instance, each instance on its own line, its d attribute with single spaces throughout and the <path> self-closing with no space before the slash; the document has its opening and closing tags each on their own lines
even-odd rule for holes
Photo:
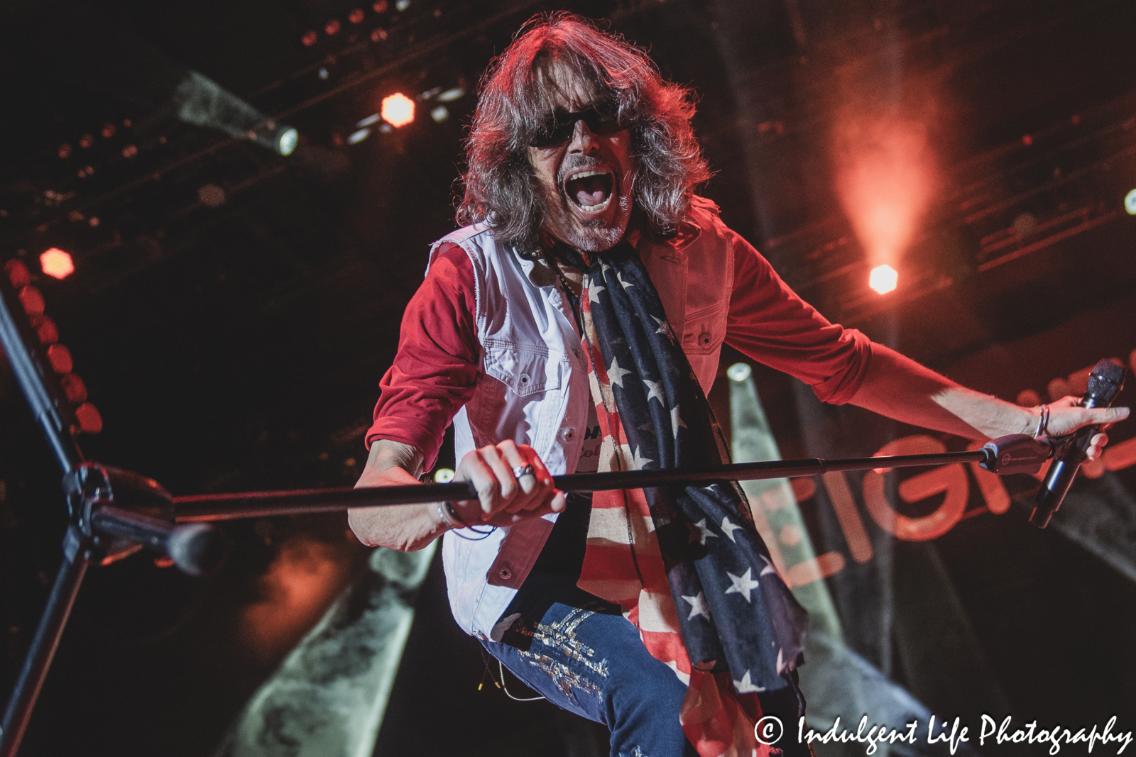
<svg viewBox="0 0 1136 757">
<path fill-rule="evenodd" d="M 151 479 L 86 462 L 74 439 L 77 424 L 70 406 L 53 373 L 45 368 L 49 364 L 47 355 L 31 323 L 18 317 L 19 300 L 7 279 L 0 277 L 0 346 L 59 463 L 70 522 L 64 538 L 62 565 L 0 724 L 0 757 L 15 757 L 19 749 L 83 577 L 93 561 L 114 560 L 144 546 L 166 552 L 183 572 L 200 575 L 216 570 L 224 558 L 224 538 L 208 522 L 477 498 L 474 488 L 465 481 L 172 497 Z M 812 457 L 703 470 L 575 473 L 554 477 L 554 481 L 557 488 L 566 491 L 599 491 L 968 462 L 977 462 L 1002 474 L 1036 473 L 1051 453 L 1047 440 L 1011 436 L 989 441 L 975 452 L 827 461 Z"/>
</svg>

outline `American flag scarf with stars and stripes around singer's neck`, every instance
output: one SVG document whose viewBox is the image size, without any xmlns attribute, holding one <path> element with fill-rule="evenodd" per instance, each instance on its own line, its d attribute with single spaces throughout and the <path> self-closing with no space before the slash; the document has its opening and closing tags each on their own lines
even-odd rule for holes
<svg viewBox="0 0 1136 757">
<path fill-rule="evenodd" d="M 563 245 L 556 253 L 585 271 L 600 470 L 725 462 L 720 430 L 635 249 L 625 242 L 591 261 Z M 596 491 L 579 587 L 623 606 L 651 655 L 687 684 L 679 721 L 701 757 L 779 751 L 754 738 L 757 695 L 788 685 L 783 674 L 801 654 L 808 613 L 735 482 Z"/>
</svg>

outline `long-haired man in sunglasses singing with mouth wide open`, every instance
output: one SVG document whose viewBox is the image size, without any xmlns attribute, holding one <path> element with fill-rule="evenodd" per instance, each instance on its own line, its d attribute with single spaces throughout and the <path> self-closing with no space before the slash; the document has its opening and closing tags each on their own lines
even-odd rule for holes
<svg viewBox="0 0 1136 757">
<path fill-rule="evenodd" d="M 368 545 L 444 533 L 458 624 L 605 724 L 613 757 L 765 754 L 757 720 L 803 713 L 807 616 L 736 486 L 552 487 L 725 462 L 705 401 L 724 342 L 826 402 L 968 438 L 1128 414 L 1018 407 L 829 323 L 694 194 L 709 173 L 693 110 L 641 50 L 570 15 L 531 23 L 492 64 L 458 211 L 471 226 L 431 252 L 359 479 L 415 482 L 452 422 L 478 499 L 350 513 Z"/>
</svg>

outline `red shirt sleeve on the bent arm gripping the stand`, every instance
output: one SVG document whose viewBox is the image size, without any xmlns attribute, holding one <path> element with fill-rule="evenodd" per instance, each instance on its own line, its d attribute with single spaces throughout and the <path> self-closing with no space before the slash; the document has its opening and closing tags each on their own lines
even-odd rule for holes
<svg viewBox="0 0 1136 757">
<path fill-rule="evenodd" d="M 481 361 L 474 268 L 456 244 L 438 250 L 402 316 L 399 352 L 379 381 L 367 447 L 390 439 L 425 453 L 434 466 L 445 428 L 474 395 Z"/>
</svg>

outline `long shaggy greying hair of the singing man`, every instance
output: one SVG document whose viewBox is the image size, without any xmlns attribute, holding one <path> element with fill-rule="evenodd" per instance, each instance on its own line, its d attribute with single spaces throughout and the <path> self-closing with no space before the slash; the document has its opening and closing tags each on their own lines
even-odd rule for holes
<svg viewBox="0 0 1136 757">
<path fill-rule="evenodd" d="M 544 208 L 528 145 L 556 104 L 553 62 L 567 67 L 593 102 L 617 106 L 632 136 L 635 208 L 653 233 L 673 234 L 694 187 L 710 177 L 691 127 L 692 92 L 665 81 L 638 48 L 568 12 L 529 20 L 485 72 L 466 142 L 458 222 L 485 222 L 499 242 L 538 254 Z"/>
</svg>

